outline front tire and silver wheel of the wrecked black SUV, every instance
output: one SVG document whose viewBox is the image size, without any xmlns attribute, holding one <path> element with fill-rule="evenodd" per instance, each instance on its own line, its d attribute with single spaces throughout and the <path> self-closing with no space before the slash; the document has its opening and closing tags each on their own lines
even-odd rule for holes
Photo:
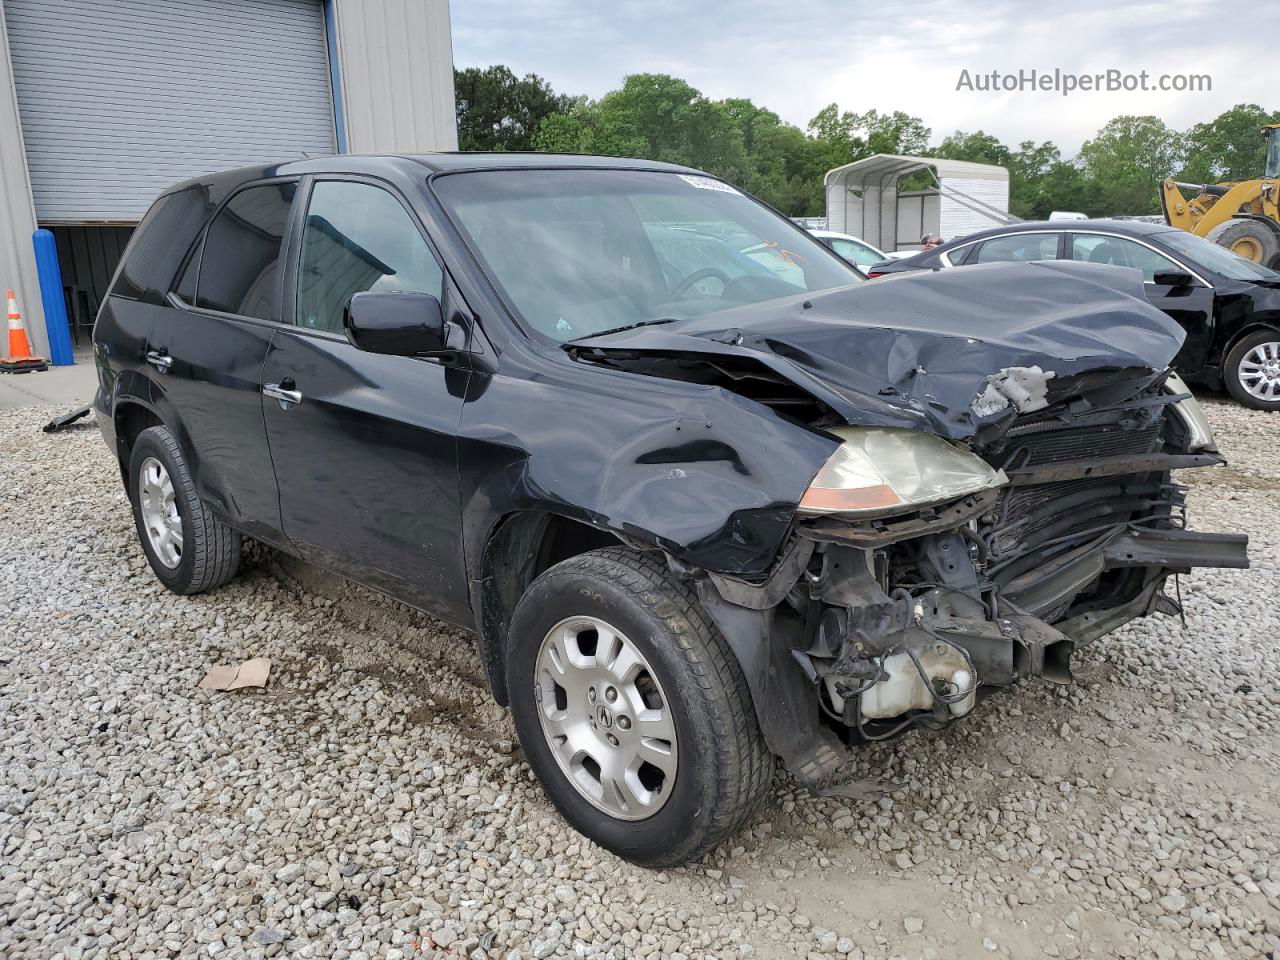
<svg viewBox="0 0 1280 960">
<path fill-rule="evenodd" d="M 584 631 L 584 625 L 590 622 L 600 623 L 600 630 Z M 575 735 L 573 742 L 586 742 L 590 756 L 582 754 L 579 781 L 575 781 L 570 767 L 563 765 L 568 763 L 563 759 L 568 749 L 553 748 L 553 735 L 544 730 L 544 719 L 553 724 L 547 718 L 556 713 L 581 723 L 582 714 L 591 716 L 593 710 L 607 705 L 602 698 L 608 686 L 599 698 L 590 698 L 600 682 L 596 682 L 600 675 L 595 671 L 602 669 L 609 654 L 596 658 L 599 646 L 593 650 L 590 644 L 612 645 L 614 639 L 609 637 L 608 628 L 621 635 L 622 643 L 634 646 L 644 668 L 652 671 L 649 680 L 653 682 L 645 680 L 644 671 L 636 673 L 630 692 L 621 694 L 616 701 L 612 726 L 598 726 L 593 718 L 590 730 L 579 728 L 586 740 Z M 590 639 L 593 632 L 594 641 Z M 595 678 L 585 695 L 573 698 L 572 714 L 566 687 L 559 687 L 550 669 L 540 666 L 545 663 L 541 658 L 544 639 L 571 634 L 577 637 L 572 641 L 575 655 L 590 652 L 582 663 L 594 666 L 571 664 L 568 669 Z M 561 815 L 580 833 L 618 856 L 643 867 L 672 867 L 694 860 L 739 831 L 768 792 L 773 755 L 760 736 L 737 659 L 698 603 L 692 588 L 673 577 L 660 557 L 607 548 L 556 564 L 529 586 L 516 605 L 508 644 L 511 710 L 530 767 Z M 567 675 L 562 678 L 567 689 L 582 689 L 575 687 Z M 549 689 L 548 680 L 557 691 L 540 694 L 539 690 Z M 620 682 L 618 686 L 625 685 Z M 646 708 L 658 704 L 660 709 L 637 710 L 636 719 L 623 727 L 627 704 L 635 703 L 636 689 L 645 691 Z M 563 700 L 559 699 L 562 692 L 566 694 Z M 588 700 L 596 705 L 590 707 Z M 543 704 L 547 704 L 545 714 Z M 643 721 L 640 713 L 662 719 Z M 650 803 L 635 803 L 636 796 L 627 794 L 630 815 L 604 809 L 616 805 L 620 797 L 616 790 L 604 796 L 607 767 L 602 763 L 614 768 L 613 754 L 604 742 L 611 735 L 605 731 L 623 737 L 614 751 L 622 763 L 631 755 L 628 744 L 634 742 L 627 741 L 622 731 L 639 733 L 641 724 L 652 727 L 666 718 L 675 731 L 672 776 L 654 787 L 655 778 L 644 778 L 649 768 L 643 764 L 636 778 L 653 790 Z M 599 762 L 593 759 L 596 753 Z M 595 763 L 594 772 L 590 763 Z M 649 769 L 650 774 L 653 769 L 657 768 Z M 586 783 L 589 790 L 579 782 Z M 589 799 L 596 787 L 600 796 Z"/>
</svg>

